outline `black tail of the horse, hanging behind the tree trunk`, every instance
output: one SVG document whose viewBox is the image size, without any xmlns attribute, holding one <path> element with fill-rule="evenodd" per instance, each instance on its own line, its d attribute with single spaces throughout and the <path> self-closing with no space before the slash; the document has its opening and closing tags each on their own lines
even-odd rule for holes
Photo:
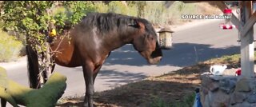
<svg viewBox="0 0 256 107">
<path fill-rule="evenodd" d="M 39 68 L 38 68 L 38 56 L 37 53 L 32 49 L 31 46 L 26 46 L 26 54 L 28 60 L 28 77 L 30 88 L 38 89 L 40 88 L 39 82 Z"/>
</svg>

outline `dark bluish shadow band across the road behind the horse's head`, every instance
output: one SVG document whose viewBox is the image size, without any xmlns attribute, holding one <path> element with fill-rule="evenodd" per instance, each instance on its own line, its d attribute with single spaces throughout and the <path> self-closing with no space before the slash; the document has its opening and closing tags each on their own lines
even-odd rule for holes
<svg viewBox="0 0 256 107">
<path fill-rule="evenodd" d="M 226 48 L 212 48 L 211 45 L 194 43 L 174 43 L 173 50 L 162 50 L 163 58 L 158 65 L 174 65 L 184 67 L 194 65 L 198 61 L 206 61 L 223 55 L 238 54 L 239 46 Z M 122 46 L 112 51 L 104 65 L 148 65 L 146 60 L 138 54 L 132 45 Z"/>
</svg>

